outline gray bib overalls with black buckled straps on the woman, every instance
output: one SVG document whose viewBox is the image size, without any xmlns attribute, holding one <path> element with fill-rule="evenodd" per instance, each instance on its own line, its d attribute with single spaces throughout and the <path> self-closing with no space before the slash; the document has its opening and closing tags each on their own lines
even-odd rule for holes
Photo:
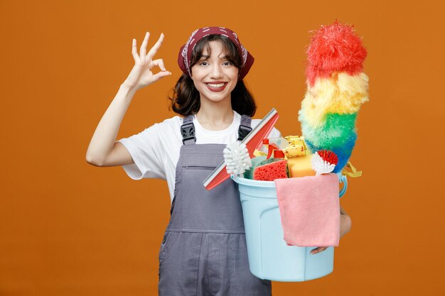
<svg viewBox="0 0 445 296">
<path fill-rule="evenodd" d="M 250 131 L 242 116 L 239 139 Z M 159 251 L 159 296 L 270 296 L 272 283 L 249 270 L 240 194 L 232 180 L 206 190 L 224 144 L 195 144 L 193 116 L 183 120 L 171 217 Z"/>
</svg>

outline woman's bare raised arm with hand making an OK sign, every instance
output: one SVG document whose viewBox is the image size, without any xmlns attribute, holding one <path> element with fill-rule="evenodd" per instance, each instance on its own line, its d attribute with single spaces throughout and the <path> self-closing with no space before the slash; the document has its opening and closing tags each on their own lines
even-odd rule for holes
<svg viewBox="0 0 445 296">
<path fill-rule="evenodd" d="M 116 137 L 122 119 L 136 91 L 156 82 L 162 77 L 171 75 L 171 72 L 165 69 L 162 59 L 153 60 L 155 53 L 161 46 L 162 40 L 163 34 L 161 34 L 153 48 L 149 50 L 149 53 L 146 54 L 146 46 L 149 41 L 149 33 L 147 32 L 138 55 L 136 39 L 133 39 L 132 55 L 134 57 L 134 67 L 124 83 L 119 87 L 119 91 L 97 125 L 87 149 L 87 163 L 96 166 L 128 165 L 133 163 L 128 150 L 121 143 L 116 143 Z M 153 74 L 151 69 L 156 66 L 161 68 L 161 72 Z"/>
</svg>

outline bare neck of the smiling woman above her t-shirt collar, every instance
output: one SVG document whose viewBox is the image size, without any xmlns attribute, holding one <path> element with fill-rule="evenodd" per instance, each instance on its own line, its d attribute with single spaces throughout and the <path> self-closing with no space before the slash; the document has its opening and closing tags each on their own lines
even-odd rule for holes
<svg viewBox="0 0 445 296">
<path fill-rule="evenodd" d="M 233 122 L 230 99 L 221 102 L 201 100 L 200 109 L 195 116 L 199 124 L 210 131 L 220 131 L 228 128 Z"/>
</svg>

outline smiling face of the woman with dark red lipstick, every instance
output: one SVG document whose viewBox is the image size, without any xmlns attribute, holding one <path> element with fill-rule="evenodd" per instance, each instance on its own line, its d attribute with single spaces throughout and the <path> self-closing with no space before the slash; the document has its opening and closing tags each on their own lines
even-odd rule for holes
<svg viewBox="0 0 445 296">
<path fill-rule="evenodd" d="M 225 48 L 218 41 L 210 41 L 209 55 L 206 47 L 203 56 L 191 68 L 192 80 L 203 99 L 221 102 L 228 99 L 238 81 L 238 68 L 225 57 Z"/>
</svg>

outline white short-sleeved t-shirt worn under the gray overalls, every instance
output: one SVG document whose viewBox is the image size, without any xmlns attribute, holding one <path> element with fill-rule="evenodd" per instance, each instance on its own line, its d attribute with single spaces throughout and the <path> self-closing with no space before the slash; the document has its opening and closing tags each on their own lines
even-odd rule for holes
<svg viewBox="0 0 445 296">
<path fill-rule="evenodd" d="M 228 144 L 237 141 L 241 116 L 233 111 L 232 124 L 221 131 L 209 131 L 199 124 L 193 116 L 195 125 L 196 144 L 220 143 Z M 260 119 L 252 119 L 252 128 L 257 126 Z M 129 138 L 121 138 L 118 142 L 127 148 L 134 160 L 131 165 L 122 165 L 127 175 L 133 180 L 142 178 L 159 178 L 167 180 L 170 202 L 173 202 L 175 192 L 176 163 L 179 159 L 182 136 L 181 116 L 174 116 L 159 124 L 154 124 Z M 277 138 L 281 133 L 273 128 L 269 138 Z"/>
</svg>

